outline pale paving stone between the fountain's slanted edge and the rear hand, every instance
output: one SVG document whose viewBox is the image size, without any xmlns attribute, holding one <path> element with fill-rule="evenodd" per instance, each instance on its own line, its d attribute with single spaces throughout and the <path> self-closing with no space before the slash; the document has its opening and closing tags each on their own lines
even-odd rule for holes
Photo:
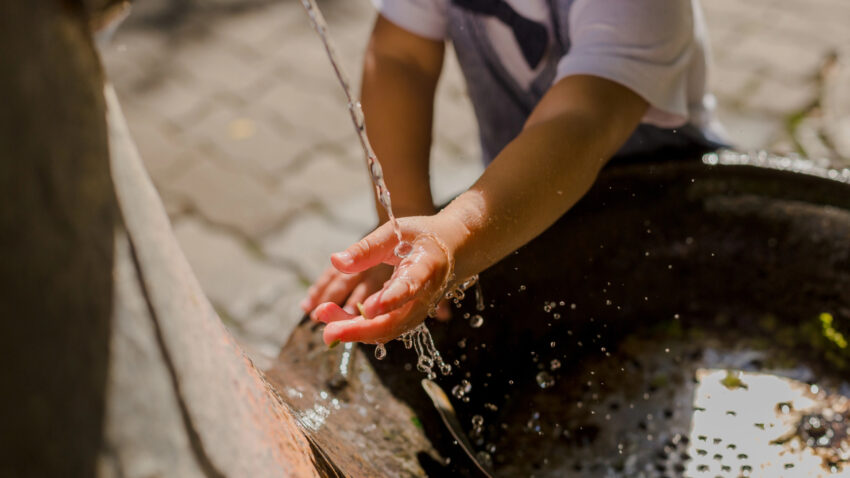
<svg viewBox="0 0 850 478">
<path fill-rule="evenodd" d="M 197 219 L 178 221 L 174 234 L 204 292 L 236 331 L 259 310 L 300 287 L 293 272 L 264 263 L 235 236 Z"/>
</svg>

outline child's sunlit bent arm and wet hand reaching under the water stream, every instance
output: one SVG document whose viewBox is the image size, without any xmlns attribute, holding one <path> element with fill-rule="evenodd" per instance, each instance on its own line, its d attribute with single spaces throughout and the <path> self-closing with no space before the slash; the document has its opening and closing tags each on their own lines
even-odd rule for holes
<svg viewBox="0 0 850 478">
<path fill-rule="evenodd" d="M 408 258 L 399 263 L 393 255 L 396 241 L 387 225 L 332 257 L 345 272 L 382 262 L 398 267 L 364 303 L 371 320 L 332 304 L 317 309 L 317 318 L 329 322 L 325 342 L 385 342 L 421 322 L 449 268 L 447 255 L 462 280 L 543 232 L 587 192 L 647 108 L 643 98 L 609 80 L 560 80 L 468 191 L 436 215 L 401 221 L 407 240 L 418 237 Z"/>
</svg>

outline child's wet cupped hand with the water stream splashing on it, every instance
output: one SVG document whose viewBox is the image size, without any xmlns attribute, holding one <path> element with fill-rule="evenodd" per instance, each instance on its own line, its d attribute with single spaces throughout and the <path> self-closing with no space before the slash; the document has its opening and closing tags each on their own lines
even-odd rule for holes
<svg viewBox="0 0 850 478">
<path fill-rule="evenodd" d="M 396 268 L 383 288 L 366 298 L 359 310 L 346 311 L 333 302 L 316 308 L 314 319 L 328 324 L 324 331 L 325 343 L 336 340 L 384 343 L 425 319 L 428 309 L 441 299 L 453 260 L 453 251 L 437 239 L 438 235 L 429 234 L 431 228 L 428 226 L 432 222 L 432 217 L 400 220 L 404 239 L 413 246 L 404 259 L 394 253 L 398 240 L 389 224 L 379 227 L 344 252 L 331 256 L 339 272 L 351 274 L 347 277 L 371 271 L 382 264 Z M 444 304 L 442 308 L 447 311 L 448 306 Z"/>
</svg>

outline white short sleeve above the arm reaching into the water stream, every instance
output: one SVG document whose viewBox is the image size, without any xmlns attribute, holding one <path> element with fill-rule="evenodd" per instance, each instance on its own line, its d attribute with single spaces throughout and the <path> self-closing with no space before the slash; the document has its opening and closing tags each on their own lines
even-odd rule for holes
<svg viewBox="0 0 850 478">
<path fill-rule="evenodd" d="M 599 76 L 643 97 L 650 104 L 645 122 L 687 121 L 687 74 L 697 44 L 691 0 L 576 0 L 569 33 L 555 81 Z"/>
</svg>

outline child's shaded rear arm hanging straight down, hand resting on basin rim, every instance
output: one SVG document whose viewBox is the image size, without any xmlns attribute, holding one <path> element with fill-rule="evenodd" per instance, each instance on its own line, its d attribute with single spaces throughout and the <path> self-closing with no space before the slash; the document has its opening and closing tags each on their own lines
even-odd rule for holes
<svg viewBox="0 0 850 478">
<path fill-rule="evenodd" d="M 396 216 L 435 212 L 428 176 L 434 91 L 444 44 L 403 30 L 378 17 L 363 65 L 362 106 L 366 130 L 384 170 Z M 377 203 L 379 223 L 386 211 Z M 322 302 L 353 306 L 378 290 L 389 267 L 341 274 L 331 267 L 301 303 L 310 312 Z"/>
</svg>

